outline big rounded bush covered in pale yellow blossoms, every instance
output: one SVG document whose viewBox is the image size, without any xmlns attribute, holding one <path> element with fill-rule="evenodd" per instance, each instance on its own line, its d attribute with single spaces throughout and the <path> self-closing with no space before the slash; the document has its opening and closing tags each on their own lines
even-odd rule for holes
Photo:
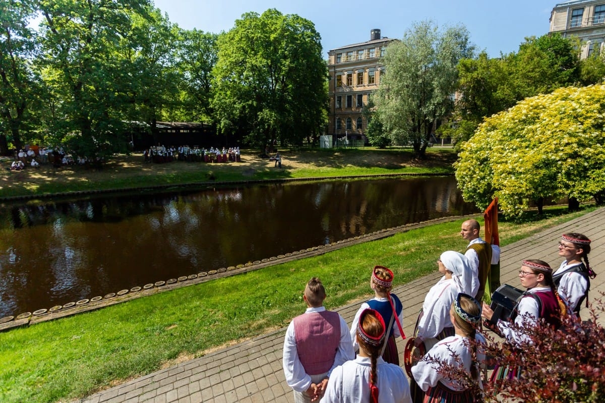
<svg viewBox="0 0 605 403">
<path fill-rule="evenodd" d="M 505 215 L 529 201 L 605 203 L 605 85 L 566 87 L 486 119 L 454 164 L 466 201 L 499 199 Z"/>
</svg>

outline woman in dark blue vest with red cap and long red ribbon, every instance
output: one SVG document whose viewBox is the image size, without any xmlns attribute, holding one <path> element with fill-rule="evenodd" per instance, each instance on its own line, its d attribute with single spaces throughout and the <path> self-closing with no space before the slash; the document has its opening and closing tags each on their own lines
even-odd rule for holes
<svg viewBox="0 0 605 403">
<path fill-rule="evenodd" d="M 381 356 L 386 362 L 399 365 L 399 352 L 397 352 L 396 338 L 403 335 L 401 323 L 404 320 L 404 306 L 397 295 L 391 294 L 393 289 L 393 272 L 384 266 L 375 266 L 370 277 L 370 288 L 374 290 L 374 298 L 361 304 L 351 324 L 351 341 L 353 348 L 357 349 L 357 324 L 359 315 L 364 309 L 378 311 L 387 324 L 387 337 L 382 346 Z M 405 338 L 405 336 L 404 336 Z"/>
</svg>

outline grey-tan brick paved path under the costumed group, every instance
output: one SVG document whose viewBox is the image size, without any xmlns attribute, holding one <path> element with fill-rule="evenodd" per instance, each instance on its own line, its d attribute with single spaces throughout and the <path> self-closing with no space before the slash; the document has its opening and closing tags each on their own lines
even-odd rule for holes
<svg viewBox="0 0 605 403">
<path fill-rule="evenodd" d="M 564 232 L 581 232 L 592 242 L 590 266 L 597 278 L 592 280 L 591 299 L 605 291 L 605 208 L 540 232 L 502 248 L 501 280 L 519 287 L 517 270 L 524 258 L 537 258 L 558 267 L 557 241 Z M 460 241 L 460 248 L 463 241 Z M 439 251 L 440 253 L 441 251 Z M 437 256 L 437 251 L 435 252 Z M 419 278 L 393 292 L 404 304 L 404 331 L 410 335 L 424 297 L 439 273 Z M 341 307 L 338 312 L 351 323 L 359 303 Z M 586 309 L 586 308 L 584 308 Z M 303 311 L 301 307 L 301 312 Z M 292 390 L 286 385 L 281 368 L 281 349 L 286 328 L 250 341 L 218 350 L 201 358 L 182 362 L 165 370 L 104 390 L 80 400 L 82 403 L 290 403 Z M 404 342 L 399 341 L 399 351 Z"/>
</svg>

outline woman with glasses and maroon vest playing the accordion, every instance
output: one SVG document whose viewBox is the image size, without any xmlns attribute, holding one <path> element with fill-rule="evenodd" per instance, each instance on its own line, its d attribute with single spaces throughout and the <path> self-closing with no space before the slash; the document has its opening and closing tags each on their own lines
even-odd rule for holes
<svg viewBox="0 0 605 403">
<path fill-rule="evenodd" d="M 519 270 L 519 280 L 526 292 L 511 313 L 514 323 L 494 317 L 494 311 L 483 303 L 482 316 L 496 327 L 512 344 L 532 344 L 531 338 L 522 327 L 538 326 L 541 319 L 555 328 L 561 325 L 561 304 L 552 282 L 552 269 L 543 260 L 524 260 Z"/>
</svg>

